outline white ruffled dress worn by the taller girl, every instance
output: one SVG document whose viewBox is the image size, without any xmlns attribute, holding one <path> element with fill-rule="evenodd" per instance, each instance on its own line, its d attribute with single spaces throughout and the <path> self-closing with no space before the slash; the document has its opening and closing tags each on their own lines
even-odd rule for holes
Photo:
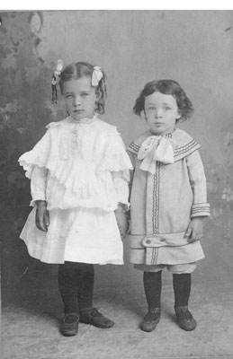
<svg viewBox="0 0 233 359">
<path fill-rule="evenodd" d="M 122 264 L 114 210 L 128 203 L 130 158 L 116 127 L 94 116 L 48 125 L 19 159 L 31 179 L 31 206 L 20 235 L 29 254 L 46 263 Z M 46 200 L 48 232 L 35 225 L 35 201 Z"/>
</svg>

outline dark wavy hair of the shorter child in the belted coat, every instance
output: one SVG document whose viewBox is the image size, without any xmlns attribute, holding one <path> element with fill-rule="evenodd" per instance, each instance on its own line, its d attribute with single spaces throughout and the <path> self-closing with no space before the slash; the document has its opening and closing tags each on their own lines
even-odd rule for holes
<svg viewBox="0 0 233 359">
<path fill-rule="evenodd" d="M 177 122 L 191 118 L 194 110 L 192 102 L 186 96 L 186 93 L 179 83 L 176 83 L 174 80 L 158 80 L 147 83 L 144 89 L 140 92 L 133 107 L 133 111 L 136 115 L 140 116 L 141 111 L 144 110 L 146 97 L 154 92 L 172 95 L 175 98 L 179 112 L 182 115 Z"/>
</svg>

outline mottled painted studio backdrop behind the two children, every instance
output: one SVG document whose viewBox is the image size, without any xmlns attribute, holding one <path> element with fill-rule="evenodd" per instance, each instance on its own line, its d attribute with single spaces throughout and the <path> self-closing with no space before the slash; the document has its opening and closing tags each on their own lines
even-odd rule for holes
<svg viewBox="0 0 233 359">
<path fill-rule="evenodd" d="M 18 240 L 29 213 L 30 184 L 17 163 L 63 118 L 63 103 L 51 104 L 51 74 L 86 60 L 103 66 L 108 101 L 103 119 L 115 124 L 126 144 L 146 129 L 132 114 L 150 80 L 173 78 L 193 101 L 193 119 L 181 125 L 202 144 L 211 218 L 205 222 L 206 259 L 200 280 L 232 283 L 233 269 L 233 12 L 64 11 L 0 13 L 0 178 L 4 285 L 28 270 L 51 267 L 31 262 Z M 126 262 L 128 246 L 125 243 Z M 56 266 L 55 266 L 56 267 Z M 141 285 L 130 265 L 97 268 L 96 285 Z M 55 270 L 55 269 L 54 269 Z M 101 281 L 99 280 L 101 278 Z"/>
</svg>

